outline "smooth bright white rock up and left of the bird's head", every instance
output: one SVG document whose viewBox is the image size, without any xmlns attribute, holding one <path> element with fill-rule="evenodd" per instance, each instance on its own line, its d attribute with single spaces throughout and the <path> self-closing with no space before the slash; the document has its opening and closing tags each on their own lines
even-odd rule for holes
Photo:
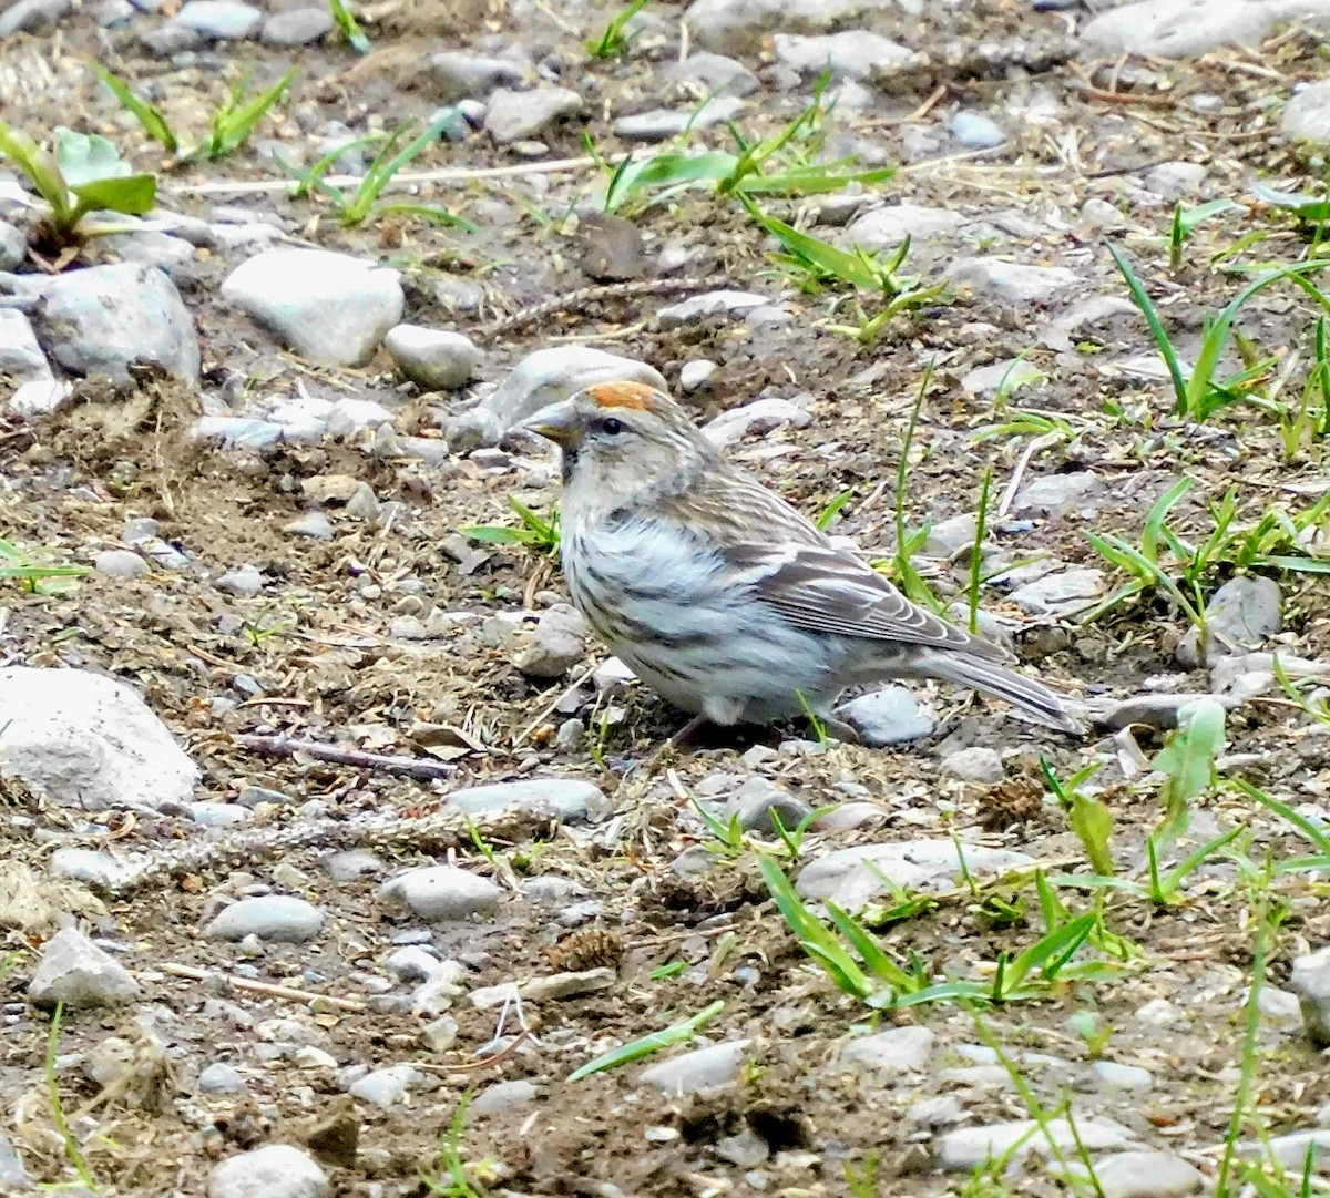
<svg viewBox="0 0 1330 1198">
<path fill-rule="evenodd" d="M 222 297 L 321 366 L 363 366 L 406 306 L 399 271 L 329 250 L 255 254 Z"/>
</svg>

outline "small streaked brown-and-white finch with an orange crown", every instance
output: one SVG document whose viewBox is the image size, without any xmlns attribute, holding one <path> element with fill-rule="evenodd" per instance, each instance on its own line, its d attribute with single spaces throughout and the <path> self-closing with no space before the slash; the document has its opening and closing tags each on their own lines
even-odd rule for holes
<svg viewBox="0 0 1330 1198">
<path fill-rule="evenodd" d="M 573 602 L 676 707 L 729 726 L 818 715 L 851 686 L 936 678 L 1079 730 L 1011 654 L 911 604 L 882 574 L 726 464 L 668 395 L 597 383 L 525 428 L 563 449 Z"/>
</svg>

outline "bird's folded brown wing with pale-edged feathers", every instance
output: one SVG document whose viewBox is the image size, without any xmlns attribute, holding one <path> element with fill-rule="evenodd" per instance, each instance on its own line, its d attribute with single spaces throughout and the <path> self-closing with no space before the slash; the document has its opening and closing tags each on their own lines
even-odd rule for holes
<svg viewBox="0 0 1330 1198">
<path fill-rule="evenodd" d="M 712 546 L 751 592 L 798 628 L 815 633 L 956 649 L 988 661 L 1011 654 L 910 602 L 867 562 L 834 545 L 810 520 L 757 481 L 730 475 L 706 488 L 702 527 Z M 682 513 L 676 513 L 678 519 Z M 697 525 L 694 525 L 694 532 Z"/>
</svg>

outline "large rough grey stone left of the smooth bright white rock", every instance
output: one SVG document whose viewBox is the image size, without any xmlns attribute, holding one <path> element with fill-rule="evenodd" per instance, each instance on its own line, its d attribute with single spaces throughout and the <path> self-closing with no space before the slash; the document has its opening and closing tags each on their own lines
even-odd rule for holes
<svg viewBox="0 0 1330 1198">
<path fill-rule="evenodd" d="M 41 290 L 33 323 L 70 374 L 128 382 L 150 362 L 198 382 L 198 335 L 176 285 L 154 266 L 121 262 L 56 275 Z"/>
</svg>

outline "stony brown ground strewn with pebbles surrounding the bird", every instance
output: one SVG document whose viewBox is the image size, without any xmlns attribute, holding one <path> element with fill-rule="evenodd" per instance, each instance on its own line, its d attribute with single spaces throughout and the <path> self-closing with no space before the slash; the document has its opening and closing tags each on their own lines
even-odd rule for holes
<svg viewBox="0 0 1330 1198">
<path fill-rule="evenodd" d="M 1253 273 L 1317 278 L 1315 209 L 1271 189 L 1323 194 L 1330 5 L 650 3 L 610 57 L 589 4 L 356 15 L 363 55 L 321 7 L 0 12 L 0 120 L 157 176 L 60 247 L 0 160 L 0 1191 L 1323 1193 L 1327 306 L 1261 290 L 1218 371 L 1248 402 L 1177 415 L 1111 246 L 1185 371 Z M 246 70 L 297 76 L 181 162 L 92 62 L 190 144 Z M 765 172 L 895 173 L 753 194 L 846 250 L 908 238 L 935 290 L 862 339 L 882 298 L 782 269 L 724 189 L 605 211 L 624 153 L 773 137 L 825 68 Z M 283 162 L 408 118 L 439 136 L 404 207 L 291 195 Z M 511 432 L 624 375 L 959 620 L 991 471 L 982 626 L 1087 737 L 911 683 L 842 710 L 857 742 L 664 747 L 681 717 L 568 606 L 557 463 Z M 1128 574 L 1087 533 L 1140 548 L 1181 479 L 1178 592 L 1107 602 Z M 1225 739 L 1156 901 L 1196 697 Z M 863 1001 L 773 870 L 920 984 L 991 993 L 1095 932 L 1000 1003 Z"/>
</svg>

